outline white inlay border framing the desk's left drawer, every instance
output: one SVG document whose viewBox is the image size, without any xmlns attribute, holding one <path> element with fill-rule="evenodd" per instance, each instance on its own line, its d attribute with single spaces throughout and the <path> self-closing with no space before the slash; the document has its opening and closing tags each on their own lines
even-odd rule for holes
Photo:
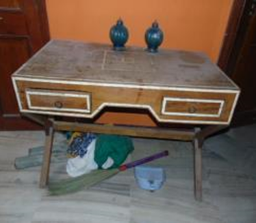
<svg viewBox="0 0 256 223">
<path fill-rule="evenodd" d="M 44 106 L 33 106 L 31 104 L 30 95 L 47 95 L 47 96 L 59 96 L 68 98 L 85 98 L 86 99 L 86 109 L 80 108 L 55 108 L 55 107 L 44 107 Z M 76 94 L 76 93 L 60 93 L 60 92 L 42 92 L 42 91 L 26 91 L 27 106 L 29 109 L 36 110 L 56 110 L 56 111 L 67 111 L 67 112 L 77 112 L 77 113 L 90 113 L 91 103 L 89 94 Z"/>
</svg>

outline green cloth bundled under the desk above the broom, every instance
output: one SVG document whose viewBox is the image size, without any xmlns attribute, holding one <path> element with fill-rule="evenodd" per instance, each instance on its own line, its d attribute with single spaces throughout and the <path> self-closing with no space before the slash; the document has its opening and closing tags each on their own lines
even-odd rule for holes
<svg viewBox="0 0 256 223">
<path fill-rule="evenodd" d="M 132 140 L 128 136 L 99 134 L 95 145 L 94 161 L 99 168 L 102 168 L 107 158 L 110 157 L 114 160 L 110 168 L 117 168 L 125 162 L 127 155 L 133 149 Z"/>
</svg>

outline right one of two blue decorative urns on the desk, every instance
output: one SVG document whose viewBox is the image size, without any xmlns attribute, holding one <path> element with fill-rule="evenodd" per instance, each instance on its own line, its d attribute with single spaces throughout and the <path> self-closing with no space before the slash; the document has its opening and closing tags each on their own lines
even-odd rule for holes
<svg viewBox="0 0 256 223">
<path fill-rule="evenodd" d="M 164 40 L 164 33 L 159 29 L 157 21 L 152 24 L 152 27 L 146 30 L 145 41 L 148 46 L 147 50 L 151 53 L 156 53 L 158 46 Z"/>
</svg>

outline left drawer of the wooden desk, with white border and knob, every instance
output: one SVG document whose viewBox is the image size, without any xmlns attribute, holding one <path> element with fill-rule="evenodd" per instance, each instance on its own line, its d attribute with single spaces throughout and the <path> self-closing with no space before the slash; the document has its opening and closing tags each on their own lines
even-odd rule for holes
<svg viewBox="0 0 256 223">
<path fill-rule="evenodd" d="M 90 93 L 27 89 L 27 106 L 31 110 L 90 113 Z"/>
</svg>

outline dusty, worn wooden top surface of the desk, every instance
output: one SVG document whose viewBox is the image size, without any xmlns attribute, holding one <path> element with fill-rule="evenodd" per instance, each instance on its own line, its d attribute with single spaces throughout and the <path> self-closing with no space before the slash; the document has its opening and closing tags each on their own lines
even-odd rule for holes
<svg viewBox="0 0 256 223">
<path fill-rule="evenodd" d="M 157 87 L 238 90 L 217 65 L 199 52 L 51 40 L 14 76 Z"/>
</svg>

